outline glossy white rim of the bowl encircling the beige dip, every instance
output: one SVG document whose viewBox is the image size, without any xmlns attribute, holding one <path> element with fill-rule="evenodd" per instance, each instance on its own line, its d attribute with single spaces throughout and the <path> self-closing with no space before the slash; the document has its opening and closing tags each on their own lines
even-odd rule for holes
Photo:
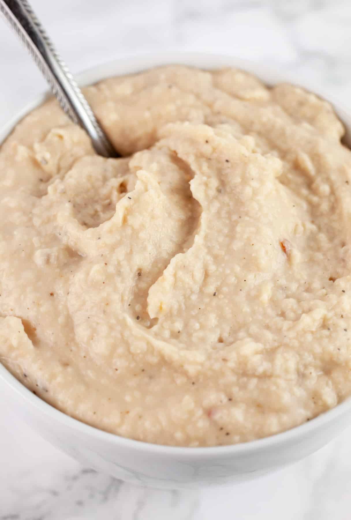
<svg viewBox="0 0 351 520">
<path fill-rule="evenodd" d="M 296 77 L 291 74 L 272 68 L 271 64 L 264 65 L 250 60 L 237 58 L 233 55 L 212 54 L 212 53 L 186 53 L 186 52 L 164 52 L 164 53 L 139 53 L 138 55 L 128 56 L 126 58 L 118 58 L 108 61 L 98 66 L 91 67 L 75 77 L 80 86 L 97 83 L 111 77 L 113 75 L 137 73 L 142 70 L 150 69 L 167 64 L 181 64 L 190 67 L 197 67 L 202 69 L 220 69 L 225 67 L 236 67 L 248 72 L 251 72 L 259 77 L 264 83 L 271 85 L 275 83 L 292 83 L 302 86 L 319 96 L 327 99 L 333 105 L 336 114 L 346 123 L 346 142 L 350 142 L 351 134 L 351 110 L 348 112 L 343 103 L 335 96 L 330 96 L 325 89 L 313 84 L 308 80 L 296 82 Z M 50 96 L 45 92 L 31 102 L 27 103 L 16 115 L 14 115 L 5 125 L 0 128 L 0 147 L 2 142 L 10 135 L 16 124 L 28 114 L 35 107 L 40 105 L 45 99 Z M 225 445 L 225 446 L 204 446 L 204 447 L 187 447 L 187 446 L 168 446 L 154 443 L 147 443 L 146 441 L 136 440 L 132 438 L 122 437 L 120 435 L 100 430 L 95 426 L 91 426 L 83 421 L 75 419 L 70 415 L 62 412 L 54 406 L 48 404 L 42 398 L 34 395 L 29 388 L 24 386 L 19 380 L 15 378 L 0 362 L 0 380 L 5 382 L 7 387 L 14 391 L 18 397 L 26 401 L 28 405 L 34 407 L 37 412 L 51 418 L 52 421 L 57 421 L 62 425 L 75 430 L 77 433 L 95 437 L 96 440 L 105 441 L 113 445 L 119 445 L 121 448 L 133 449 L 137 451 L 146 451 L 155 454 L 165 454 L 175 457 L 186 457 L 192 459 L 198 458 L 212 458 L 218 456 L 241 456 L 248 452 L 256 453 L 258 451 L 272 448 L 276 444 L 290 445 L 296 440 L 305 436 L 311 436 L 320 427 L 326 426 L 334 421 L 337 421 L 342 415 L 351 411 L 351 396 L 347 397 L 340 404 L 334 408 L 319 414 L 316 418 L 294 426 L 289 430 L 273 434 L 268 437 L 263 437 L 244 443 Z"/>
</svg>

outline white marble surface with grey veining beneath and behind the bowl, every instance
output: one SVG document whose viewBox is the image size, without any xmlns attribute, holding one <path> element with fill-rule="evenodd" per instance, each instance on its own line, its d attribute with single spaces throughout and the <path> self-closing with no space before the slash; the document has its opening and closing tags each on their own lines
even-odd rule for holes
<svg viewBox="0 0 351 520">
<path fill-rule="evenodd" d="M 74 72 L 160 49 L 271 60 L 347 101 L 349 0 L 32 0 Z M 147 4 L 147 7 L 146 7 Z M 0 125 L 45 88 L 0 27 Z M 32 433 L 0 400 L 0 520 L 349 520 L 351 429 L 279 473 L 237 486 L 160 491 L 82 467 Z"/>
</svg>

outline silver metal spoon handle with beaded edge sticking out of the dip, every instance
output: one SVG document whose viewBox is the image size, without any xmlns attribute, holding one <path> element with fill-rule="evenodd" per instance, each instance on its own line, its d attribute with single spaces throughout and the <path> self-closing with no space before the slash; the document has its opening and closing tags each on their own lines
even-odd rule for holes
<svg viewBox="0 0 351 520">
<path fill-rule="evenodd" d="M 96 152 L 104 157 L 118 157 L 29 3 L 26 0 L 0 0 L 0 12 L 30 51 L 61 108 L 74 123 L 84 128 Z"/>
</svg>

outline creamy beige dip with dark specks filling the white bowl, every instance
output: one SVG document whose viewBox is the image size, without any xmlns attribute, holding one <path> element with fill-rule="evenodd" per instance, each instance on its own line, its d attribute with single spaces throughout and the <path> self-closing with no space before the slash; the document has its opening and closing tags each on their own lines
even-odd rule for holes
<svg viewBox="0 0 351 520">
<path fill-rule="evenodd" d="M 0 360 L 151 443 L 281 432 L 351 394 L 351 152 L 329 103 L 238 70 L 85 89 L 104 159 L 49 100 L 0 150 Z"/>
</svg>

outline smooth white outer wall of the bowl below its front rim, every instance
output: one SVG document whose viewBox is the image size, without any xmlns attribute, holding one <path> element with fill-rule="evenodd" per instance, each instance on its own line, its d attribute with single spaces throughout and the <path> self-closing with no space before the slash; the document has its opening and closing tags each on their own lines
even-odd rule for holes
<svg viewBox="0 0 351 520">
<path fill-rule="evenodd" d="M 167 448 L 153 450 L 151 445 L 148 446 L 151 449 L 144 449 L 144 443 L 119 446 L 113 435 L 100 438 L 94 434 L 94 428 L 87 428 L 88 433 L 77 430 L 76 421 L 67 424 L 52 420 L 52 414 L 43 413 L 41 407 L 32 404 L 33 400 L 23 398 L 22 392 L 13 392 L 8 385 L 3 389 L 11 408 L 53 446 L 97 471 L 132 484 L 156 488 L 190 489 L 250 480 L 315 452 L 351 421 L 348 407 L 337 421 L 328 421 L 314 432 L 305 431 L 297 438 L 279 441 L 279 436 L 271 437 L 272 442 L 262 448 L 258 442 L 256 449 L 242 452 L 221 449 L 213 455 L 213 450 L 208 449 L 207 455 L 205 449 L 198 457 L 196 448 L 168 452 Z M 247 448 L 249 444 L 254 447 L 255 443 L 248 443 Z"/>
</svg>

